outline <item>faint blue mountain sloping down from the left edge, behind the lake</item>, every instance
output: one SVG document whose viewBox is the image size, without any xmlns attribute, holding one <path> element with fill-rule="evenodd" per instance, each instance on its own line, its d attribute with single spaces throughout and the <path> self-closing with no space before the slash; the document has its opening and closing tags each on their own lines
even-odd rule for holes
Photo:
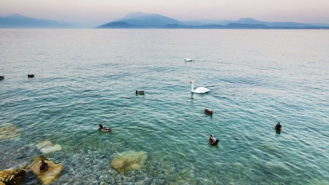
<svg viewBox="0 0 329 185">
<path fill-rule="evenodd" d="M 0 28 L 65 28 L 69 24 L 46 19 L 34 19 L 19 14 L 0 17 Z"/>
</svg>

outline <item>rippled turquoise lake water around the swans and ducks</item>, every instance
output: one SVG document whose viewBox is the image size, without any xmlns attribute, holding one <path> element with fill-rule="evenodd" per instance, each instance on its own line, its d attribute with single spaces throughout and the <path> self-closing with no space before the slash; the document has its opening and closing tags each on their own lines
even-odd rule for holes
<svg viewBox="0 0 329 185">
<path fill-rule="evenodd" d="M 0 48 L 0 126 L 20 128 L 0 169 L 49 140 L 58 185 L 329 185 L 328 30 L 0 29 Z M 113 170 L 125 151 L 144 168 Z"/>
</svg>

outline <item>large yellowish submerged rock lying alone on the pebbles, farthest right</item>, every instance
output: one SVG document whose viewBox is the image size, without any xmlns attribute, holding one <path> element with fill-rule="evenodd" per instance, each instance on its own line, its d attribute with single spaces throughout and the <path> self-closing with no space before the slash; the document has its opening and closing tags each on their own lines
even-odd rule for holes
<svg viewBox="0 0 329 185">
<path fill-rule="evenodd" d="M 129 151 L 117 154 L 110 164 L 116 171 L 123 173 L 142 168 L 146 159 L 146 152 Z"/>
</svg>

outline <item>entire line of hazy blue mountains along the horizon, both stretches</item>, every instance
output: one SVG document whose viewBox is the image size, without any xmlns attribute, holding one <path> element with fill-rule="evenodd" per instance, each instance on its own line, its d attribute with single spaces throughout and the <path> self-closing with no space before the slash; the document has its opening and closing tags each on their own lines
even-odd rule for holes
<svg viewBox="0 0 329 185">
<path fill-rule="evenodd" d="M 35 19 L 19 14 L 0 17 L 0 28 L 69 28 L 79 27 L 74 23 L 60 23 L 46 19 Z M 96 28 L 249 28 L 249 29 L 329 29 L 329 24 L 304 24 L 294 22 L 265 22 L 252 18 L 242 18 L 238 21 L 229 20 L 196 20 L 178 21 L 160 14 L 134 12 L 118 21 L 112 21 Z"/>
</svg>

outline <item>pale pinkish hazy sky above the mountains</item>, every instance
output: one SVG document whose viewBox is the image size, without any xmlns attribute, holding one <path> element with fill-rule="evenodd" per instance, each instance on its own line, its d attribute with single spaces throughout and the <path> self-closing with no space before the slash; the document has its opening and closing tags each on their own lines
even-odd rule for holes
<svg viewBox="0 0 329 185">
<path fill-rule="evenodd" d="M 329 24 L 329 0 L 0 0 L 0 16 L 98 26 L 132 12 L 158 13 L 180 21 L 238 20 Z"/>
</svg>

